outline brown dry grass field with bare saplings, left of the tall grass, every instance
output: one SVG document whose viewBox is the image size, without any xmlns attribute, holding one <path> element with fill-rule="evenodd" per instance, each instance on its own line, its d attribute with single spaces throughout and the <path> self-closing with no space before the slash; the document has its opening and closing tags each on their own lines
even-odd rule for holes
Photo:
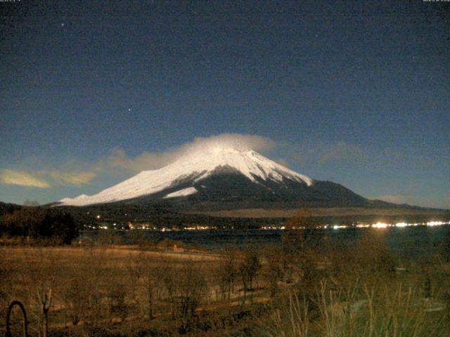
<svg viewBox="0 0 450 337">
<path fill-rule="evenodd" d="M 31 336 L 46 336 L 45 326 L 49 336 L 129 336 L 150 323 L 178 333 L 199 312 L 267 298 L 261 289 L 244 299 L 236 275 L 226 297 L 218 279 L 221 256 L 182 249 L 15 246 L 0 248 L 0 260 L 0 331 L 8 303 L 20 300 Z M 19 318 L 13 326 L 20 330 Z"/>
</svg>

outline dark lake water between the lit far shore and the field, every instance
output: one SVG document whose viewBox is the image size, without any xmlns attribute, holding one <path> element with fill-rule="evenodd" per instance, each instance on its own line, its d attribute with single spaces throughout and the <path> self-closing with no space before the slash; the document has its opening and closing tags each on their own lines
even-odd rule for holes
<svg viewBox="0 0 450 337">
<path fill-rule="evenodd" d="M 281 242 L 283 234 L 288 230 L 180 230 L 180 231 L 153 231 L 142 230 L 142 235 L 152 241 L 172 239 L 184 242 L 191 246 L 203 249 L 226 249 L 227 246 L 245 246 L 276 244 Z M 318 237 L 326 236 L 329 242 L 350 245 L 356 244 L 358 239 L 364 237 L 367 231 L 375 231 L 385 237 L 387 245 L 395 253 L 405 255 L 420 255 L 437 252 L 439 244 L 450 241 L 450 225 L 417 226 L 417 227 L 388 227 L 383 229 L 371 228 L 340 228 L 315 230 Z M 82 237 L 95 238 L 103 231 L 83 232 Z M 130 232 L 115 232 L 129 243 Z"/>
</svg>

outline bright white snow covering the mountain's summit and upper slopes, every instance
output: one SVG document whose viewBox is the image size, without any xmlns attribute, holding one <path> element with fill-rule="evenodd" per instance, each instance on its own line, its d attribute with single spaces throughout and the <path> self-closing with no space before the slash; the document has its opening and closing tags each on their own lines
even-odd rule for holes
<svg viewBox="0 0 450 337">
<path fill-rule="evenodd" d="M 261 154 L 249 150 L 238 148 L 232 145 L 217 145 L 195 150 L 184 154 L 176 161 L 161 169 L 152 171 L 142 171 L 136 176 L 124 180 L 113 187 L 107 188 L 97 194 L 87 196 L 82 194 L 74 199 L 61 199 L 60 206 L 84 206 L 88 204 L 99 204 L 125 199 L 141 197 L 165 190 L 168 187 L 176 187 L 179 183 L 192 181 L 197 182 L 214 173 L 215 169 L 229 166 L 243 174 L 248 179 L 257 183 L 256 178 L 262 180 L 274 180 L 283 182 L 284 179 L 305 183 L 308 186 L 313 184 L 313 180 L 300 173 L 292 171 L 285 166 L 277 164 L 275 161 L 262 156 Z M 193 188 L 193 187 L 192 187 Z M 172 197 L 181 191 L 172 194 Z M 184 192 L 194 193 L 193 190 L 184 189 Z M 181 192 L 181 193 L 184 193 Z M 195 190 L 195 192 L 197 192 Z M 175 194 L 175 195 L 174 195 Z"/>
</svg>

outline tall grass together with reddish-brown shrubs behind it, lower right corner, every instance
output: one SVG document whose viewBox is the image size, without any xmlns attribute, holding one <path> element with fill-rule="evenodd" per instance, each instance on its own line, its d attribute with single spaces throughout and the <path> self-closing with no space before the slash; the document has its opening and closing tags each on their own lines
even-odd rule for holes
<svg viewBox="0 0 450 337">
<path fill-rule="evenodd" d="M 319 256 L 300 252 L 316 261 L 314 272 L 311 264 L 300 265 L 297 282 L 269 306 L 262 335 L 450 336 L 450 265 L 444 259 L 402 260 L 373 231 L 355 246 L 326 248 Z"/>
</svg>

